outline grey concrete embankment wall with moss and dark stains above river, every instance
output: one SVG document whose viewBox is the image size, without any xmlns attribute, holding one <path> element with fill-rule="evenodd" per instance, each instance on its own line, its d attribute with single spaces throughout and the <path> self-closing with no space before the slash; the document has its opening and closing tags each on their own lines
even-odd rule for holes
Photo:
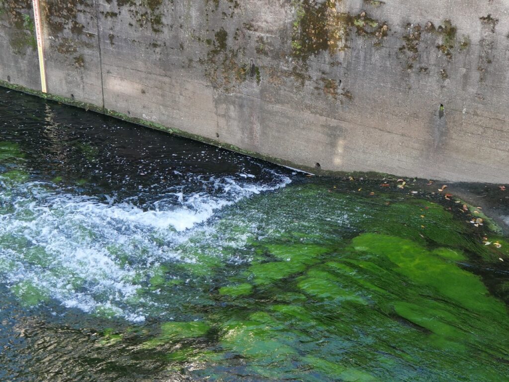
<svg viewBox="0 0 509 382">
<path fill-rule="evenodd" d="M 0 0 L 0 80 L 305 169 L 509 182 L 508 12 L 504 0 Z"/>
</svg>

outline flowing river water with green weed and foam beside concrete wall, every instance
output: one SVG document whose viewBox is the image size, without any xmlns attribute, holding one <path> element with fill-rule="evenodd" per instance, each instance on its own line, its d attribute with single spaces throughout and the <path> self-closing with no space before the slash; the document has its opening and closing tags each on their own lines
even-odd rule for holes
<svg viewBox="0 0 509 382">
<path fill-rule="evenodd" d="M 6 89 L 0 174 L 2 381 L 509 380 L 509 242 L 412 179 Z"/>
</svg>

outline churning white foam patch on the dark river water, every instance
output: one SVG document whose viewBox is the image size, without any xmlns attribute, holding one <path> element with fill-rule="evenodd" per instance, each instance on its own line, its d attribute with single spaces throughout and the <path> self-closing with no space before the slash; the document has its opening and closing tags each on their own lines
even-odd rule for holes
<svg viewBox="0 0 509 382">
<path fill-rule="evenodd" d="M 146 282 L 161 262 L 181 259 L 177 246 L 197 231 L 210 236 L 207 221 L 220 209 L 291 182 L 274 175 L 273 184 L 209 179 L 212 193 L 177 192 L 152 210 L 59 194 L 36 182 L 0 192 L 0 206 L 11 208 L 0 214 L 0 282 L 21 294 L 30 286 L 68 308 L 144 320 L 154 303 L 139 297 L 139 276 Z"/>
</svg>

